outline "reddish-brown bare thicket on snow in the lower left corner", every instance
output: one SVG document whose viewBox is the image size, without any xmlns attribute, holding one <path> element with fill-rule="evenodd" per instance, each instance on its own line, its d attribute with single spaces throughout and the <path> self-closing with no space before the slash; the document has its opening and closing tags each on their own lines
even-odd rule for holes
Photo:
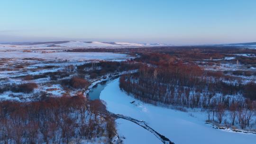
<svg viewBox="0 0 256 144">
<path fill-rule="evenodd" d="M 111 143 L 115 135 L 115 122 L 99 100 L 73 96 L 0 101 L 1 144 L 79 144 L 95 139 Z"/>
</svg>

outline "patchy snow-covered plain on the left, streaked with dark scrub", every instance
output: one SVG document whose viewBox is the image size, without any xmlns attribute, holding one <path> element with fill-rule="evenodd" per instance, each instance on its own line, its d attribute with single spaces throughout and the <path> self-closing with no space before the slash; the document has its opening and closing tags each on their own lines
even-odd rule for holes
<svg viewBox="0 0 256 144">
<path fill-rule="evenodd" d="M 49 51 L 47 51 L 49 52 Z M 103 52 L 84 52 L 73 53 L 65 51 L 56 51 L 54 53 L 42 53 L 41 51 L 23 52 L 16 51 L 0 51 L 0 87 L 6 85 L 21 84 L 34 82 L 37 83 L 33 93 L 17 93 L 13 91 L 4 91 L 0 93 L 0 99 L 16 99 L 27 100 L 35 93 L 41 95 L 40 92 L 61 96 L 64 93 L 63 88 L 59 84 L 52 84 L 50 77 L 36 78 L 35 80 L 24 80 L 24 76 L 40 76 L 49 72 L 64 73 L 66 66 L 82 65 L 84 63 L 97 61 L 124 61 L 131 57 L 127 54 L 103 53 Z M 63 79 L 71 78 L 75 75 L 69 72 Z M 61 80 L 61 79 L 59 79 Z M 15 95 L 15 96 L 13 96 Z"/>
</svg>

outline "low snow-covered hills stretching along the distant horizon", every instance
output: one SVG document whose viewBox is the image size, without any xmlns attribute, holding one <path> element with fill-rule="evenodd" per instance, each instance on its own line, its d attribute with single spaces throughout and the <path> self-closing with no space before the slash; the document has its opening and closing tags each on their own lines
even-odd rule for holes
<svg viewBox="0 0 256 144">
<path fill-rule="evenodd" d="M 154 46 L 174 46 L 170 44 L 139 44 L 139 43 L 127 43 L 127 42 L 82 42 L 82 41 L 52 41 L 52 42 L 18 42 L 18 43 L 2 43 L 0 44 L 1 49 L 9 48 L 123 48 L 123 47 L 154 47 Z M 176 45 L 177 46 L 177 45 Z M 181 46 L 181 45 L 180 45 Z M 188 45 L 187 45 L 188 46 Z M 196 46 L 196 45 L 194 45 Z M 252 43 L 234 43 L 234 44 L 220 44 L 214 46 L 240 46 L 256 48 L 256 42 Z"/>
</svg>

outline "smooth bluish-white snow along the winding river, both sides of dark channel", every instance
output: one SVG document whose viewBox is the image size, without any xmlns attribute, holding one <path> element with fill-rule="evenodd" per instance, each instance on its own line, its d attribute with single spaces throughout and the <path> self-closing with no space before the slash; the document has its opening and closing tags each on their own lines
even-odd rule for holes
<svg viewBox="0 0 256 144">
<path fill-rule="evenodd" d="M 255 134 L 230 133 L 213 129 L 204 124 L 207 118 L 204 112 L 182 112 L 174 109 L 156 107 L 145 104 L 128 96 L 119 89 L 119 79 L 109 83 L 101 91 L 100 98 L 107 103 L 107 109 L 115 114 L 122 114 L 146 121 L 155 131 L 165 135 L 175 144 L 255 144 Z M 130 104 L 131 101 L 136 101 Z M 144 141 L 138 144 L 155 144 L 146 131 L 140 131 L 142 127 L 132 126 L 125 120 L 117 120 L 118 132 L 124 135 L 125 144 L 135 144 L 134 139 Z M 140 132 L 140 133 L 137 133 Z M 159 140 L 158 144 L 161 141 Z"/>
</svg>

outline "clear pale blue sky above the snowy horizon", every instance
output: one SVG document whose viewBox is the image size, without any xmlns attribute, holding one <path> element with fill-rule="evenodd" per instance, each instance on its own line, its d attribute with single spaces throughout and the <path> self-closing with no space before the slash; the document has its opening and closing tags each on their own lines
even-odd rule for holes
<svg viewBox="0 0 256 144">
<path fill-rule="evenodd" d="M 256 42 L 256 0 L 0 0 L 0 42 Z"/>
</svg>

